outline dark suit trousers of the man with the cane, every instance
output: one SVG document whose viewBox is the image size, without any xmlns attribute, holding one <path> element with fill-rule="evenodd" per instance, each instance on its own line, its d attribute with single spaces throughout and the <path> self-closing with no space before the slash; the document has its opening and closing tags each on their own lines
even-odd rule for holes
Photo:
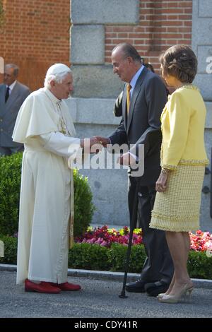
<svg viewBox="0 0 212 332">
<path fill-rule="evenodd" d="M 129 177 L 129 212 L 132 216 L 136 178 Z M 151 211 L 155 201 L 155 184 L 139 187 L 139 208 L 137 225 L 141 227 L 143 244 L 146 251 L 146 261 L 141 271 L 141 280 L 148 283 L 163 280 L 170 283 L 174 271 L 170 251 L 167 247 L 165 232 L 149 227 Z M 132 218 L 130 218 L 132 219 Z M 132 223 L 132 220 L 131 220 Z"/>
</svg>

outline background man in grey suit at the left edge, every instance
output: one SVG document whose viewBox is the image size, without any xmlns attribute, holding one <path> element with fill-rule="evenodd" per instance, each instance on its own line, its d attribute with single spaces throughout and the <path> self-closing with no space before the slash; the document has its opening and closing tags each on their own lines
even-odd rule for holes
<svg viewBox="0 0 212 332">
<path fill-rule="evenodd" d="M 26 85 L 17 81 L 18 66 L 6 64 L 4 84 L 0 84 L 0 155 L 23 150 L 23 144 L 13 142 L 12 134 L 20 106 L 30 94 Z"/>
</svg>

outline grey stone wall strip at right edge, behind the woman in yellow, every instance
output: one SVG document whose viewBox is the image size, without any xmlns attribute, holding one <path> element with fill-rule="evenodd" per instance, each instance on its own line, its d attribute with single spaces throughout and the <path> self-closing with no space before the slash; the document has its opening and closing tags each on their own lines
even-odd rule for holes
<svg viewBox="0 0 212 332">
<path fill-rule="evenodd" d="M 198 57 L 198 73 L 194 84 L 199 86 L 207 107 L 205 141 L 208 158 L 211 160 L 212 148 L 212 1 L 193 0 L 192 14 L 192 49 Z M 212 66 L 211 66 L 212 69 Z M 209 166 L 212 171 L 212 165 Z M 211 174 L 206 174 L 204 186 L 210 188 Z M 212 190 L 212 188 L 211 188 Z M 212 193 L 211 193 L 212 194 Z M 201 230 L 212 230 L 210 217 L 210 193 L 202 194 Z"/>
</svg>

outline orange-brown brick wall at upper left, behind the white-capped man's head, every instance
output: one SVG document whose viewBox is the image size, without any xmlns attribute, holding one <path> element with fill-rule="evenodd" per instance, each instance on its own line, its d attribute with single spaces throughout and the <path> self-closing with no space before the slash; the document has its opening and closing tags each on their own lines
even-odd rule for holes
<svg viewBox="0 0 212 332">
<path fill-rule="evenodd" d="M 20 66 L 19 81 L 31 90 L 43 85 L 55 62 L 69 65 L 69 0 L 3 0 L 6 24 L 0 57 Z"/>
</svg>

